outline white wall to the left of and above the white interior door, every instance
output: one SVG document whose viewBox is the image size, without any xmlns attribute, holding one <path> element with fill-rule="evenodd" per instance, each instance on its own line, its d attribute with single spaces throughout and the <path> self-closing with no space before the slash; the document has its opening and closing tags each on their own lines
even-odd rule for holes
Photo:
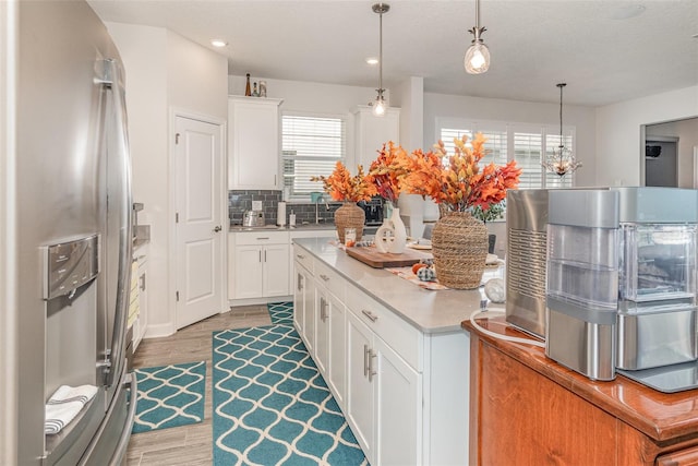
<svg viewBox="0 0 698 466">
<path fill-rule="evenodd" d="M 133 199 L 151 225 L 147 337 L 176 331 L 170 111 L 227 119 L 225 57 L 160 27 L 107 23 L 127 70 Z"/>
</svg>

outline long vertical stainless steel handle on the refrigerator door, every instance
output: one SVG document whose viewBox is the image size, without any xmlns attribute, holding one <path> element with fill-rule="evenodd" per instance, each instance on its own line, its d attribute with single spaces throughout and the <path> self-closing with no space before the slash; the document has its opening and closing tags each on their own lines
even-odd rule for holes
<svg viewBox="0 0 698 466">
<path fill-rule="evenodd" d="M 131 287 L 131 263 L 133 261 L 132 215 L 133 199 L 131 195 L 131 160 L 129 157 L 129 134 L 127 128 L 127 104 L 123 91 L 123 82 L 119 62 L 115 59 L 106 60 L 105 85 L 111 89 L 116 122 L 113 123 L 116 138 L 119 141 L 119 151 L 115 156 L 119 157 L 115 164 L 120 169 L 122 178 L 121 212 L 119 212 L 119 276 L 117 283 L 117 302 L 113 322 L 113 335 L 111 340 L 111 370 L 107 373 L 106 385 L 115 383 L 121 373 L 121 365 L 125 361 L 125 333 L 129 307 L 129 294 Z"/>
</svg>

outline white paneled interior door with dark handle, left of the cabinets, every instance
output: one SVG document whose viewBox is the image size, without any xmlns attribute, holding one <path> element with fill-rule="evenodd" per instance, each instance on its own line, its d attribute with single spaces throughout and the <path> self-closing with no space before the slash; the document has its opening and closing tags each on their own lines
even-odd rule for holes
<svg viewBox="0 0 698 466">
<path fill-rule="evenodd" d="M 177 327 L 224 310 L 221 127 L 176 117 Z"/>
</svg>

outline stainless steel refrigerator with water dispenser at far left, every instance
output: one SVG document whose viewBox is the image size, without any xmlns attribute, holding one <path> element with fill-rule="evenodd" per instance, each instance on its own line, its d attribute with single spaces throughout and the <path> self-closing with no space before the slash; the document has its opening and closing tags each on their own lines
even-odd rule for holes
<svg viewBox="0 0 698 466">
<path fill-rule="evenodd" d="M 16 1 L 13 104 L 20 465 L 120 464 L 135 407 L 125 331 L 132 263 L 124 74 L 82 0 Z M 0 345 L 10 345 L 0 342 Z M 61 386 L 97 394 L 57 434 L 46 403 Z M 8 426 L 11 422 L 4 422 Z"/>
</svg>

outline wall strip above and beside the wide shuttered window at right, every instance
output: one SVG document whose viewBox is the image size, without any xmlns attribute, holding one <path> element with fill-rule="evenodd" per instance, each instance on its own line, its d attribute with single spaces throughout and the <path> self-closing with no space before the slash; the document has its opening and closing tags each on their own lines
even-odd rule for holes
<svg viewBox="0 0 698 466">
<path fill-rule="evenodd" d="M 583 163 L 575 174 L 575 186 L 594 186 L 595 181 L 595 115 L 592 107 L 565 105 L 565 126 L 576 127 L 576 158 Z M 467 97 L 446 94 L 424 94 L 424 147 L 431 147 L 438 136 L 437 118 L 547 124 L 559 128 L 559 104 L 538 104 L 519 100 Z"/>
</svg>

